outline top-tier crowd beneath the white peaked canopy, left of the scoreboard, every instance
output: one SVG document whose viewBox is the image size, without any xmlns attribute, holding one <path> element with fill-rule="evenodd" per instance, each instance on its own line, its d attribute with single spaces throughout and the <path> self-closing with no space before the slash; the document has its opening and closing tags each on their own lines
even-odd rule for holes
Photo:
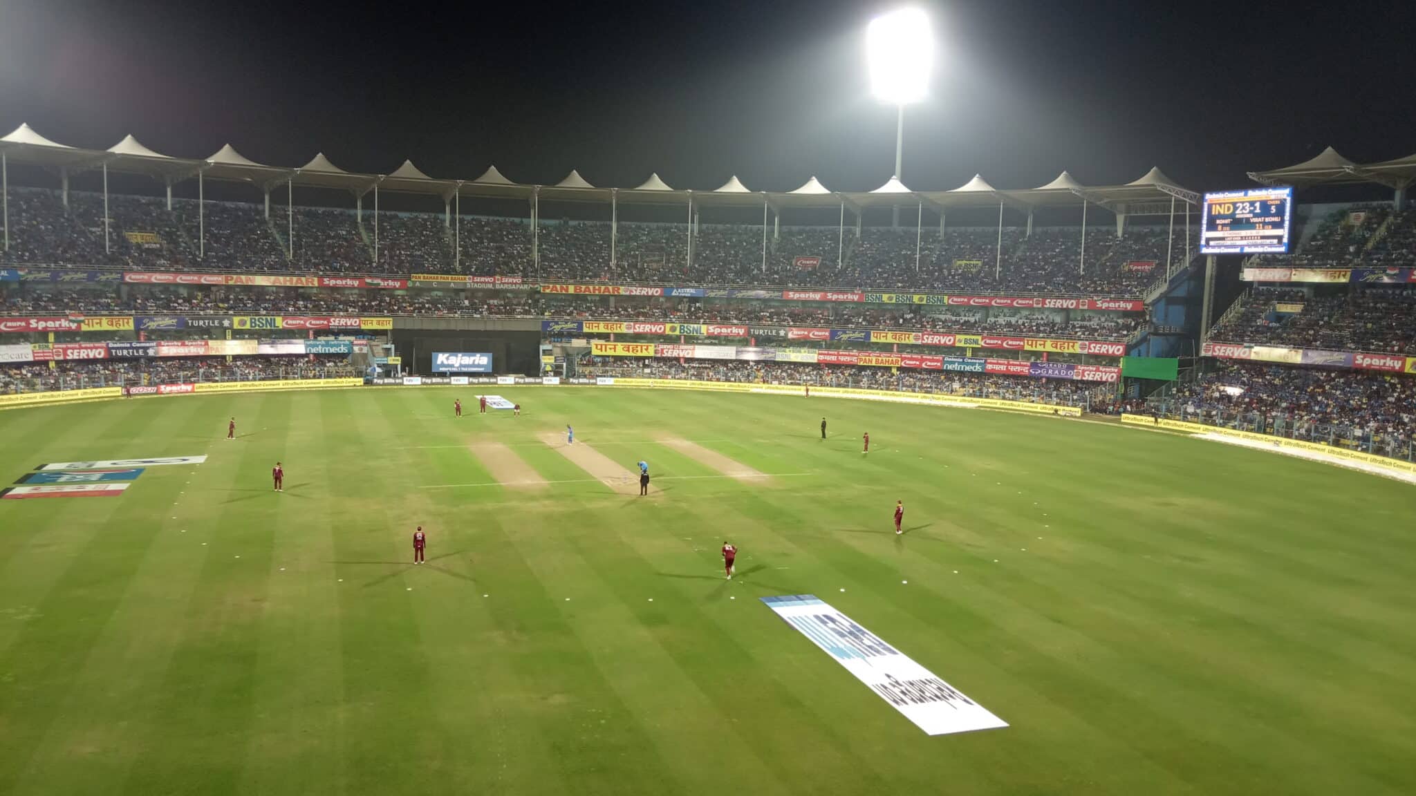
<svg viewBox="0 0 1416 796">
<path fill-rule="evenodd" d="M 1008 227 L 1000 239 L 995 228 L 865 227 L 857 237 L 834 225 L 780 227 L 763 241 L 758 225 L 701 224 L 690 241 L 687 224 L 620 222 L 612 246 L 605 221 L 542 221 L 532 235 L 523 218 L 449 224 L 439 212 L 385 211 L 375 231 L 368 210 L 295 207 L 287 218 L 283 207 L 268 217 L 253 203 L 176 198 L 169 210 L 127 194 L 109 195 L 105 231 L 99 194 L 71 191 L 65 207 L 58 191 L 10 193 L 11 246 L 0 259 L 31 265 L 1138 295 L 1154 275 L 1127 263 L 1167 259 L 1165 232 L 1146 227 L 1124 238 L 1089 228 L 1083 265 L 1075 228 L 1029 237 Z"/>
</svg>

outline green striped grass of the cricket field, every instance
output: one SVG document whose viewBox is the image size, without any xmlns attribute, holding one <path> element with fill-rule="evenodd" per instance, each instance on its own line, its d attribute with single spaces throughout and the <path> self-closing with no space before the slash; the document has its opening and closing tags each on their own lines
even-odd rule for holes
<svg viewBox="0 0 1416 796">
<path fill-rule="evenodd" d="M 0 793 L 1416 792 L 1408 484 L 1046 416 L 498 390 L 527 415 L 472 388 L 0 412 L 3 483 L 210 456 L 0 500 Z M 539 439 L 568 422 L 663 491 L 590 480 Z M 564 483 L 497 486 L 490 442 Z M 758 599 L 797 593 L 1010 727 L 926 735 Z"/>
</svg>

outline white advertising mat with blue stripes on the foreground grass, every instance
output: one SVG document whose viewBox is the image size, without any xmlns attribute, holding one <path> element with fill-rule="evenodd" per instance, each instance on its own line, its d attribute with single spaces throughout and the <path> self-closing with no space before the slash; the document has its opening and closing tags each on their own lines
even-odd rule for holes
<svg viewBox="0 0 1416 796">
<path fill-rule="evenodd" d="M 929 735 L 1008 727 L 817 596 L 765 596 L 762 602 Z"/>
</svg>

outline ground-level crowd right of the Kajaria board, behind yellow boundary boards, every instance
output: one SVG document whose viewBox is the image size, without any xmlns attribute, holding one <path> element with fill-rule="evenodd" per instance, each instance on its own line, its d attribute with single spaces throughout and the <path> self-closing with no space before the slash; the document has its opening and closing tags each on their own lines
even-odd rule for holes
<svg viewBox="0 0 1416 796">
<path fill-rule="evenodd" d="M 697 381 L 733 381 L 755 384 L 799 384 L 810 387 L 850 387 L 903 392 L 935 392 L 973 398 L 1005 398 L 1061 405 L 1104 405 L 1114 385 L 1083 381 L 1042 380 L 1021 375 L 970 374 L 946 371 L 896 371 L 854 365 L 818 365 L 804 363 L 746 363 L 736 360 L 623 360 L 586 356 L 576 371 L 581 375 L 681 378 Z"/>
</svg>

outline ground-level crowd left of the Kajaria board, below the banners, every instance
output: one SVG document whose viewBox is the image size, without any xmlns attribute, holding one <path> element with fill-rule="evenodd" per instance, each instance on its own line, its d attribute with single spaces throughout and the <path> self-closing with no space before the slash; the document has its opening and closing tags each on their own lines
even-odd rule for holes
<svg viewBox="0 0 1416 796">
<path fill-rule="evenodd" d="M 348 358 L 341 356 L 234 357 L 229 363 L 225 357 L 8 363 L 0 364 L 0 394 L 357 375 L 360 374 L 350 367 Z"/>
</svg>

